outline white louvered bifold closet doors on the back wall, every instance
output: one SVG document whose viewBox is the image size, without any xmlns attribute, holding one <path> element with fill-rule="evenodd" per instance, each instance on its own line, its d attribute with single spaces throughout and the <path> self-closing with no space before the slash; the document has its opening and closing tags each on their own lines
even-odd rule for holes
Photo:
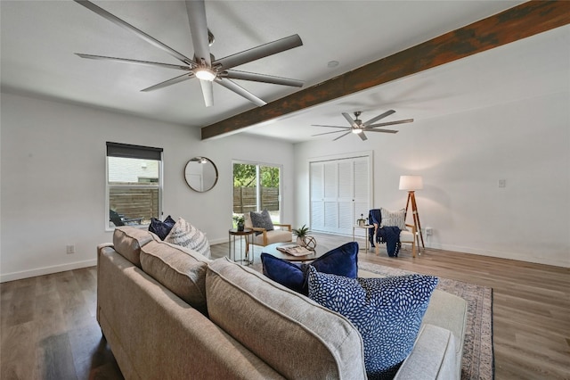
<svg viewBox="0 0 570 380">
<path fill-rule="evenodd" d="M 371 205 L 369 156 L 310 163 L 311 229 L 352 235 L 356 219 Z M 359 235 L 363 234 L 357 228 Z"/>
</svg>

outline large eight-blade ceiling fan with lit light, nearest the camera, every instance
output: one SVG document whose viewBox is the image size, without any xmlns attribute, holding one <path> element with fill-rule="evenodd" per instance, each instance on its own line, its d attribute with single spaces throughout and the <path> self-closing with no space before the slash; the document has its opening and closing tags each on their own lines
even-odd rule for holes
<svg viewBox="0 0 570 380">
<path fill-rule="evenodd" d="M 194 46 L 193 58 L 176 52 L 173 48 L 161 43 L 159 40 L 149 36 L 140 29 L 136 29 L 133 25 L 119 19 L 117 16 L 105 11 L 100 6 L 95 5 L 86 0 L 75 0 L 76 3 L 85 6 L 85 8 L 99 14 L 103 18 L 117 24 L 119 27 L 132 31 L 136 36 L 142 38 L 151 45 L 164 50 L 167 54 L 172 55 L 183 64 L 170 64 L 148 61 L 137 61 L 126 58 L 107 57 L 102 55 L 91 54 L 77 54 L 81 58 L 92 60 L 107 60 L 123 63 L 134 63 L 152 67 L 162 67 L 167 69 L 184 70 L 183 75 L 168 79 L 141 91 L 152 91 L 159 88 L 174 85 L 175 83 L 182 82 L 183 80 L 198 78 L 202 88 L 202 95 L 204 96 L 204 103 L 209 107 L 214 104 L 214 92 L 212 82 L 232 90 L 234 93 L 241 95 L 248 99 L 250 102 L 255 103 L 257 106 L 265 105 L 266 103 L 258 98 L 256 95 L 251 94 L 248 90 L 240 87 L 232 81 L 232 79 L 251 80 L 256 82 L 270 83 L 275 85 L 302 87 L 303 82 L 297 79 L 274 77 L 271 75 L 258 74 L 254 72 L 232 70 L 232 68 L 244 63 L 256 61 L 269 55 L 278 54 L 286 50 L 292 49 L 297 46 L 303 45 L 301 37 L 292 35 L 289 37 L 281 38 L 276 41 L 259 45 L 243 52 L 228 55 L 227 57 L 216 59 L 214 55 L 210 54 L 209 46 L 214 42 L 214 35 L 209 31 L 206 23 L 206 7 L 204 0 L 186 0 L 186 12 L 188 13 L 188 20 L 190 21 L 190 32 L 192 45 Z"/>
</svg>

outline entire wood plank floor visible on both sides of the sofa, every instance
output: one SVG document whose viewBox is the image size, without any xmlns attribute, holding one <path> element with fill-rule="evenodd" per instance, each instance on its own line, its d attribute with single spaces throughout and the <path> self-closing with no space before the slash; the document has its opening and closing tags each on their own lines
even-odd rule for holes
<svg viewBox="0 0 570 380">
<path fill-rule="evenodd" d="M 331 248 L 351 240 L 314 235 Z M 212 246 L 215 257 L 227 252 Z M 570 379 L 570 268 L 436 250 L 392 259 L 384 248 L 359 260 L 493 287 L 495 378 Z M 122 378 L 95 320 L 96 268 L 4 283 L 0 293 L 1 379 Z"/>
</svg>

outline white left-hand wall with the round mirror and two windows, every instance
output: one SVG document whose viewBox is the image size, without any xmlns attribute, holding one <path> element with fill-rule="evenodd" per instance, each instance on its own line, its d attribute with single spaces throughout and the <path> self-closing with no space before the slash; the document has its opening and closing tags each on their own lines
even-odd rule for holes
<svg viewBox="0 0 570 380">
<path fill-rule="evenodd" d="M 95 265 L 104 229 L 107 141 L 164 148 L 164 216 L 183 217 L 227 241 L 232 227 L 232 159 L 283 165 L 283 219 L 293 218 L 293 145 L 251 136 L 202 142 L 199 129 L 2 94 L 0 281 Z M 194 156 L 216 163 L 208 193 L 186 185 Z M 74 244 L 75 254 L 66 253 Z"/>
</svg>

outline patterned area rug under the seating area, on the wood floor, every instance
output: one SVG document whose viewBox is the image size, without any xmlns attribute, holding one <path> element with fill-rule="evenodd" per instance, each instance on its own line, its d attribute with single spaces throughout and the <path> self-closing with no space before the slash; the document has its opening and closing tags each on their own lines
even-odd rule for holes
<svg viewBox="0 0 570 380">
<path fill-rule="evenodd" d="M 368 262 L 359 262 L 358 267 L 382 276 L 403 276 L 413 273 Z M 492 380 L 494 378 L 493 288 L 439 277 L 437 289 L 458 295 L 468 302 L 461 379 Z"/>
</svg>

